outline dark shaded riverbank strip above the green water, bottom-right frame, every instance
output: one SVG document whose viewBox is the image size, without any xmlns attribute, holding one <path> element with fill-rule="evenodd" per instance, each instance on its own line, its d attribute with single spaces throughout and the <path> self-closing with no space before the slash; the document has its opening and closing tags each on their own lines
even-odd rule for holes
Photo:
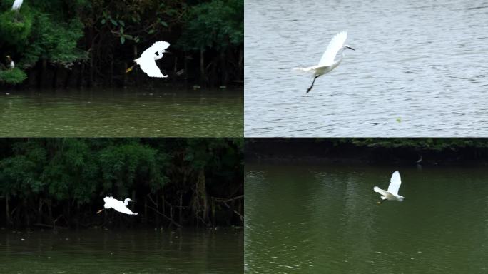
<svg viewBox="0 0 488 274">
<path fill-rule="evenodd" d="M 246 163 L 488 165 L 486 138 L 249 138 Z"/>
</svg>

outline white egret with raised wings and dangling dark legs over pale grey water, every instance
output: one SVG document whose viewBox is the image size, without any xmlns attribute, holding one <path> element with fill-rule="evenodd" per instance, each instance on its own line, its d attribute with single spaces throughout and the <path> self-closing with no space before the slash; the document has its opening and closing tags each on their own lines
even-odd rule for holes
<svg viewBox="0 0 488 274">
<path fill-rule="evenodd" d="M 332 69 L 339 66 L 340 62 L 344 58 L 345 49 L 352 49 L 350 46 L 344 44 L 346 39 L 347 39 L 346 31 L 341 31 L 338 34 L 335 34 L 335 36 L 332 37 L 332 39 L 330 40 L 329 46 L 327 46 L 327 49 L 322 55 L 322 58 L 320 59 L 319 64 L 317 66 L 309 66 L 307 68 L 295 68 L 295 70 L 298 71 L 313 73 L 312 85 L 310 85 L 310 88 L 307 89 L 307 93 L 309 93 L 312 90 L 313 84 L 315 83 L 315 80 L 317 78 L 324 75 L 325 73 L 329 73 L 330 71 L 332 71 Z M 339 56 L 339 59 L 335 60 L 335 56 L 341 50 L 342 50 L 342 54 Z M 355 49 L 352 50 L 355 51 Z"/>
</svg>

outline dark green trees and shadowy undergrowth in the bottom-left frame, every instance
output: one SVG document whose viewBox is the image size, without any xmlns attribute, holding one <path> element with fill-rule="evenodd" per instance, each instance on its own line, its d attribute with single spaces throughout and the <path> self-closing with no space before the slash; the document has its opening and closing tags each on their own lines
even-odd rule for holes
<svg viewBox="0 0 488 274">
<path fill-rule="evenodd" d="M 101 207 L 103 196 L 149 198 L 156 208 L 178 205 L 182 196 L 200 197 L 191 199 L 191 208 L 202 212 L 210 207 L 208 196 L 242 195 L 242 140 L 13 138 L 0 140 L 0 148 L 0 199 L 11 203 L 17 223 L 26 214 L 69 219 L 83 205 L 88 216 L 98 218 L 93 208 Z M 41 213 L 56 205 L 56 213 Z"/>
</svg>

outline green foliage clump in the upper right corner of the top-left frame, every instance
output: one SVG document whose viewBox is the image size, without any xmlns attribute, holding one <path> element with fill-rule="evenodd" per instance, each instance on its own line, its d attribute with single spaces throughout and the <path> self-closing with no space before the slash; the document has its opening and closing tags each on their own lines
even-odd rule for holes
<svg viewBox="0 0 488 274">
<path fill-rule="evenodd" d="M 225 50 L 244 39 L 242 0 L 212 0 L 190 9 L 180 44 L 185 49 Z"/>
</svg>

